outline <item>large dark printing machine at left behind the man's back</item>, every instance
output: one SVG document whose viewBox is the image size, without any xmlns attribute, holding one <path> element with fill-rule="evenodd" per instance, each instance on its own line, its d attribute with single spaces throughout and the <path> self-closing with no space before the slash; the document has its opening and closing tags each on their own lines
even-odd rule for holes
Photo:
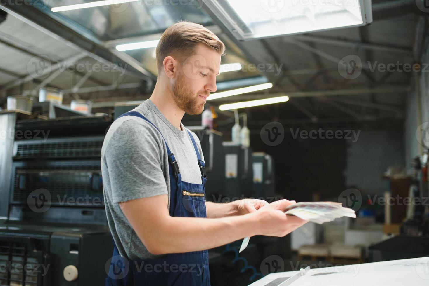
<svg viewBox="0 0 429 286">
<path fill-rule="evenodd" d="M 100 161 L 112 119 L 25 117 L 0 113 L 0 285 L 105 285 Z"/>
</svg>

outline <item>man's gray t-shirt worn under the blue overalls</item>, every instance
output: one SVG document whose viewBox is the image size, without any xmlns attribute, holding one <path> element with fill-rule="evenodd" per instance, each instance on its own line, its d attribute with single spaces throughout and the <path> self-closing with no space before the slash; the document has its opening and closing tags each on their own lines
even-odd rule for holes
<svg viewBox="0 0 429 286">
<path fill-rule="evenodd" d="M 142 113 L 162 133 L 178 162 L 182 180 L 201 184 L 201 172 L 187 128 L 175 128 L 150 100 L 132 111 Z M 167 149 L 159 131 L 136 116 L 123 116 L 110 126 L 101 149 L 104 203 L 107 221 L 119 253 L 130 259 L 155 259 L 124 216 L 118 202 L 168 194 L 170 179 Z M 201 146 L 191 132 L 201 159 Z M 126 204 L 124 207 L 127 207 Z M 142 219 L 145 219 L 142 216 Z M 174 239 L 174 238 L 172 238 Z"/>
</svg>

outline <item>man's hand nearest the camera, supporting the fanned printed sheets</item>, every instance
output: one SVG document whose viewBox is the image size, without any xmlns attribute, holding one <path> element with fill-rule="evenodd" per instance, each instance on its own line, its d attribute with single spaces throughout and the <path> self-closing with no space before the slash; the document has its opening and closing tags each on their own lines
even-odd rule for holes
<svg viewBox="0 0 429 286">
<path fill-rule="evenodd" d="M 287 206 L 295 203 L 289 200 L 278 200 L 263 206 L 254 215 L 257 220 L 258 234 L 268 236 L 285 236 L 293 232 L 299 226 L 307 223 L 308 220 L 303 220 L 292 215 L 285 215 L 284 209 Z"/>
</svg>

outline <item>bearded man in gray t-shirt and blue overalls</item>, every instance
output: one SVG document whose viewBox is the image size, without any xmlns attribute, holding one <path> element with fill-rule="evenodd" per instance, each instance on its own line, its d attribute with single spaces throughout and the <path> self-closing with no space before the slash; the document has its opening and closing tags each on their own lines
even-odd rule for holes
<svg viewBox="0 0 429 286">
<path fill-rule="evenodd" d="M 205 201 L 201 146 L 181 119 L 202 113 L 216 92 L 224 51 L 199 24 L 170 26 L 156 48 L 154 92 L 107 132 L 103 188 L 115 248 L 106 285 L 208 286 L 208 249 L 306 222 L 284 215 L 288 200 Z"/>
</svg>

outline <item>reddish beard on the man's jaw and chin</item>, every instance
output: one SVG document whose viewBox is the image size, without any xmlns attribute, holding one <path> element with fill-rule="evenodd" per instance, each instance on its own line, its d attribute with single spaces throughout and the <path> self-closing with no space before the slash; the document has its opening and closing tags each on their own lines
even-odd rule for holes
<svg viewBox="0 0 429 286">
<path fill-rule="evenodd" d="M 174 101 L 187 114 L 201 114 L 204 110 L 204 102 L 199 102 L 199 95 L 195 96 L 192 90 L 187 87 L 183 77 L 183 75 L 180 75 L 173 85 Z"/>
</svg>

